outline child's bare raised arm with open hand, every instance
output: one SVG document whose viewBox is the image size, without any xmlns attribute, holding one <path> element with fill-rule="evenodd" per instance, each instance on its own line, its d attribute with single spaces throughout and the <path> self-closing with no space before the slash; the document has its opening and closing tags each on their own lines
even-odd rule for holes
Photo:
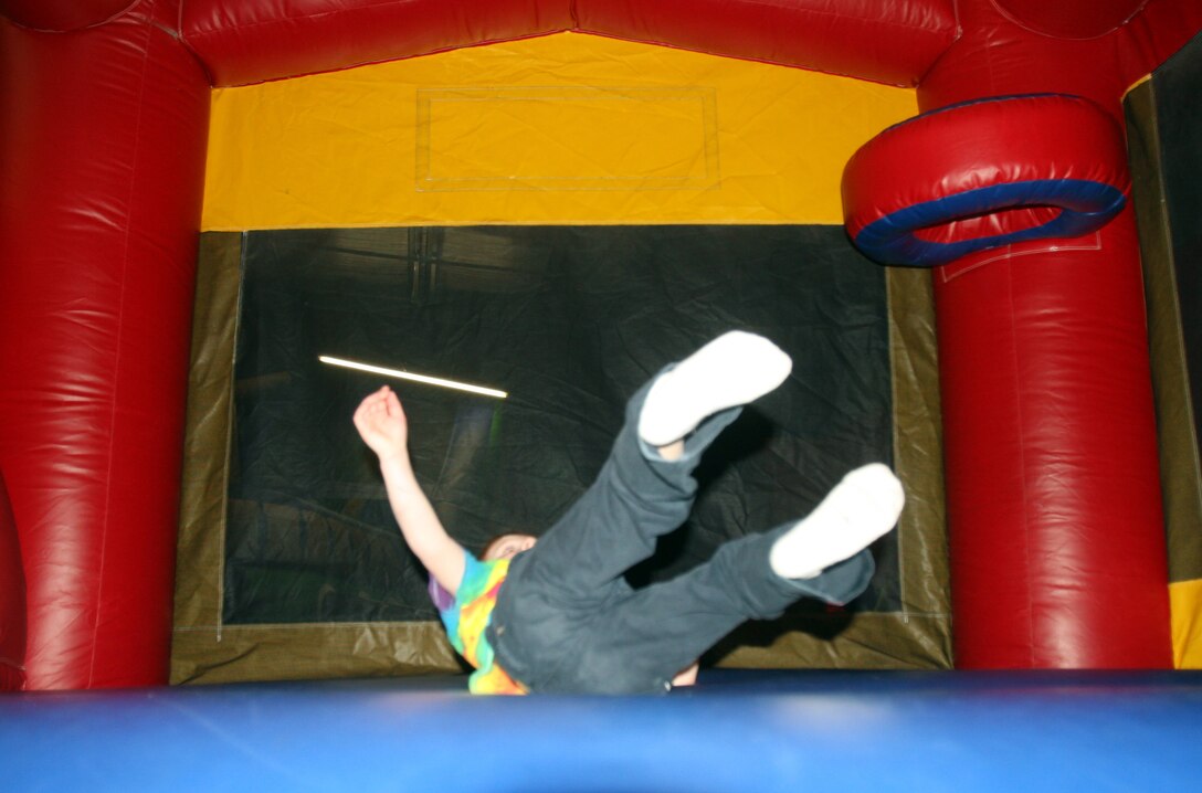
<svg viewBox="0 0 1202 793">
<path fill-rule="evenodd" d="M 446 532 L 417 484 L 409 459 L 409 422 L 397 394 L 387 386 L 369 394 L 355 411 L 355 428 L 380 458 L 388 503 L 405 542 L 434 580 L 454 595 L 463 580 L 464 549 Z"/>
</svg>

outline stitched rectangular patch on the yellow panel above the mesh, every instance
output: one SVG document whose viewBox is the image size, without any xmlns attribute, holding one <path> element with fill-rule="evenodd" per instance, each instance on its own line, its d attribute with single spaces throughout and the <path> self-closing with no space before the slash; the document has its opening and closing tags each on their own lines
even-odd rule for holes
<svg viewBox="0 0 1202 793">
<path fill-rule="evenodd" d="M 719 185 L 703 88 L 418 89 L 416 127 L 418 191 Z"/>
</svg>

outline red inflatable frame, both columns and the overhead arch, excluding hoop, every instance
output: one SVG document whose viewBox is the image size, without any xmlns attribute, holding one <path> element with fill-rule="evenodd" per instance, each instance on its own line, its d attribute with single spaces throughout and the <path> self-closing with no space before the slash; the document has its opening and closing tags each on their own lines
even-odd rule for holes
<svg viewBox="0 0 1202 793">
<path fill-rule="evenodd" d="M 210 85 L 579 30 L 917 85 L 926 108 L 1057 91 L 1117 114 L 1202 28 L 1191 0 L 0 0 L 0 470 L 30 688 L 166 680 Z M 1167 666 L 1130 211 L 1096 250 L 971 264 L 935 273 L 960 662 Z"/>
</svg>

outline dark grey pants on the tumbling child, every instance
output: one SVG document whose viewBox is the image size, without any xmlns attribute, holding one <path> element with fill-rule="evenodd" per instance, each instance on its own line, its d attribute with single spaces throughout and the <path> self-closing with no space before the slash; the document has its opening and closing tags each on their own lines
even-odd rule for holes
<svg viewBox="0 0 1202 793">
<path fill-rule="evenodd" d="M 668 461 L 636 433 L 650 386 L 627 404 L 596 482 L 513 560 L 501 586 L 488 639 L 501 667 L 530 691 L 664 692 L 743 621 L 780 616 L 802 597 L 846 603 L 875 570 L 864 550 L 816 578 L 776 576 L 768 551 L 790 521 L 725 543 L 672 580 L 631 589 L 624 573 L 689 517 L 701 454 L 742 410 L 709 417 L 686 439 L 684 455 Z"/>
</svg>

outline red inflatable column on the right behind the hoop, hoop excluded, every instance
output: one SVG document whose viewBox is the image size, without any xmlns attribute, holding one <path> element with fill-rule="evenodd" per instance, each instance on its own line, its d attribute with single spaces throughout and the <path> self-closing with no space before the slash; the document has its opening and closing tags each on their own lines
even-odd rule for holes
<svg viewBox="0 0 1202 793">
<path fill-rule="evenodd" d="M 920 102 L 1057 91 L 1121 125 L 1144 6 L 965 0 Z M 1014 145 L 1064 133 L 1033 127 Z M 960 667 L 1172 666 L 1132 217 L 935 274 Z"/>
</svg>

